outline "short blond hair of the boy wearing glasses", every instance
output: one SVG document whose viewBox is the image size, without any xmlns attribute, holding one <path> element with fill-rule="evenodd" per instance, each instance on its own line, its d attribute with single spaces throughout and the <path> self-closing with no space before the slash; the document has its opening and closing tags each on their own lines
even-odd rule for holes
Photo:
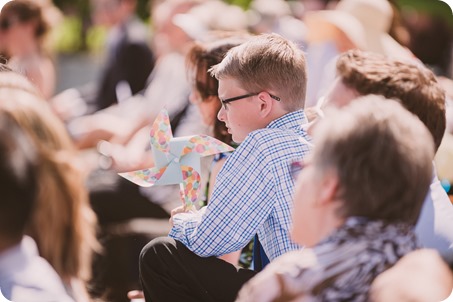
<svg viewBox="0 0 453 302">
<path fill-rule="evenodd" d="M 304 107 L 305 55 L 294 43 L 277 34 L 255 36 L 232 48 L 210 71 L 217 79 L 235 79 L 250 93 L 272 92 L 287 111 Z"/>
</svg>

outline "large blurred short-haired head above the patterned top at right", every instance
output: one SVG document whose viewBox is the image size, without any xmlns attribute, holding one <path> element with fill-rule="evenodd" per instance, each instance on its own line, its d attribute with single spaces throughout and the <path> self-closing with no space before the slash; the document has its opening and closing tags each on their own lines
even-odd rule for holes
<svg viewBox="0 0 453 302">
<path fill-rule="evenodd" d="M 292 238 L 313 246 L 352 216 L 415 224 L 432 177 L 433 142 L 413 114 L 367 96 L 326 113 L 296 183 Z"/>
</svg>

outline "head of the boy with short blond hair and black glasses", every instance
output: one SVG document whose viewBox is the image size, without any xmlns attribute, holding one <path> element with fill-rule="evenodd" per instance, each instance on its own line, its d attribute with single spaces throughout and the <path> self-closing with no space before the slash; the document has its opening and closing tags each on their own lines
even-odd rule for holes
<svg viewBox="0 0 453 302">
<path fill-rule="evenodd" d="M 218 118 L 235 142 L 304 107 L 304 53 L 277 34 L 255 36 L 232 48 L 211 72 L 219 80 L 223 103 Z"/>
</svg>

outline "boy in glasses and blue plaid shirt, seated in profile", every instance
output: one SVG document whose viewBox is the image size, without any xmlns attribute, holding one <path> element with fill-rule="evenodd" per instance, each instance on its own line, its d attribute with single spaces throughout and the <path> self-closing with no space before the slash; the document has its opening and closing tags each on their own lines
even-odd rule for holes
<svg viewBox="0 0 453 302">
<path fill-rule="evenodd" d="M 172 212 L 169 238 L 140 256 L 146 301 L 233 301 L 256 272 L 217 256 L 245 246 L 257 233 L 266 256 L 299 248 L 289 236 L 293 179 L 289 163 L 309 151 L 305 57 L 276 34 L 251 38 L 212 68 L 223 121 L 239 148 L 220 171 L 209 205 Z"/>
</svg>

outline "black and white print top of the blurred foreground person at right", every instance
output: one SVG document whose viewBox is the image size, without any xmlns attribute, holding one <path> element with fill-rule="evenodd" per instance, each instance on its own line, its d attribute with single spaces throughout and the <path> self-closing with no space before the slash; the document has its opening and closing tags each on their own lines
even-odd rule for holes
<svg viewBox="0 0 453 302">
<path fill-rule="evenodd" d="M 237 301 L 368 301 L 377 275 L 418 247 L 408 224 L 350 217 L 315 247 L 273 261 Z"/>
</svg>

